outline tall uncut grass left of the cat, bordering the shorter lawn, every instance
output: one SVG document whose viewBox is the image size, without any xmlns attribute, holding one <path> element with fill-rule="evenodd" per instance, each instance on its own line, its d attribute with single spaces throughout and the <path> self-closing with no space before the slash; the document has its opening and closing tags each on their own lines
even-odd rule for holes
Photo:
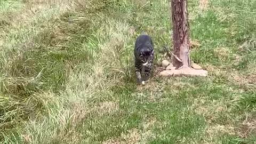
<svg viewBox="0 0 256 144">
<path fill-rule="evenodd" d="M 64 10 L 45 1 L 40 12 L 26 17 L 29 22 L 12 29 L 4 26 L 2 142 L 78 139 L 75 129 L 94 107 L 90 101 L 103 99 L 102 93 L 111 96 L 108 89 L 122 83 L 122 65 L 131 58 L 124 53 L 129 26 L 104 18 L 111 7 L 114 1 L 80 1 L 73 10 Z"/>
</svg>

